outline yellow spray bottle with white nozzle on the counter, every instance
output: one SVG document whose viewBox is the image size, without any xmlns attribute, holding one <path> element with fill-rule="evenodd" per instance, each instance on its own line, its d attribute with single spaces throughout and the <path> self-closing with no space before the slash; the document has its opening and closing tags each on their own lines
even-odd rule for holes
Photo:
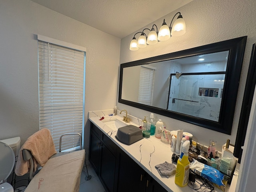
<svg viewBox="0 0 256 192">
<path fill-rule="evenodd" d="M 176 174 L 175 174 L 175 184 L 180 187 L 184 187 L 188 184 L 188 176 L 189 176 L 189 165 L 188 161 L 188 149 L 190 146 L 190 141 L 185 141 L 182 145 L 182 153 L 180 154 L 180 158 L 177 162 Z"/>
</svg>

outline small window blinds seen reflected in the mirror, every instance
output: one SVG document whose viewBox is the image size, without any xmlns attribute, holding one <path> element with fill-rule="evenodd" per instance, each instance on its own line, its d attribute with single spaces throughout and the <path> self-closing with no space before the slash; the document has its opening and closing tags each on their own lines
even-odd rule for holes
<svg viewBox="0 0 256 192">
<path fill-rule="evenodd" d="M 140 68 L 140 84 L 138 102 L 152 106 L 154 70 L 151 68 Z"/>
</svg>

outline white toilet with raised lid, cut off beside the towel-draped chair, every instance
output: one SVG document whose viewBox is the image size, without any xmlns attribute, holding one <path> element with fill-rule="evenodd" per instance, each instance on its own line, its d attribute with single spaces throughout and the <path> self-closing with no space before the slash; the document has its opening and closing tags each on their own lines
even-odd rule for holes
<svg viewBox="0 0 256 192">
<path fill-rule="evenodd" d="M 7 183 L 12 173 L 15 156 L 20 150 L 20 137 L 0 140 L 0 192 L 14 192 L 11 184 Z"/>
</svg>

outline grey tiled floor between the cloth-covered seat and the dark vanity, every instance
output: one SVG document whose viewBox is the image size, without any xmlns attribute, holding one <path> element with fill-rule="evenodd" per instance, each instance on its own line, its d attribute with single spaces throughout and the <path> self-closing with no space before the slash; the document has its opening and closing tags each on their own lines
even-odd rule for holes
<svg viewBox="0 0 256 192">
<path fill-rule="evenodd" d="M 83 168 L 81 174 L 81 181 L 80 181 L 80 190 L 79 192 L 105 192 L 104 187 L 102 186 L 98 176 L 96 175 L 94 169 L 92 168 L 90 162 L 86 162 L 88 173 L 92 176 L 92 178 L 88 181 L 85 180 L 86 168 Z"/>
</svg>

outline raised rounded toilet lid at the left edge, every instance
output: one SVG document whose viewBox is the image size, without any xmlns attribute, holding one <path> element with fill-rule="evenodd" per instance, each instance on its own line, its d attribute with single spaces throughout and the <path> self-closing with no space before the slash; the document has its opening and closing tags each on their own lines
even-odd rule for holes
<svg viewBox="0 0 256 192">
<path fill-rule="evenodd" d="M 0 142 L 0 184 L 11 174 L 15 163 L 15 156 L 12 148 Z"/>
</svg>

